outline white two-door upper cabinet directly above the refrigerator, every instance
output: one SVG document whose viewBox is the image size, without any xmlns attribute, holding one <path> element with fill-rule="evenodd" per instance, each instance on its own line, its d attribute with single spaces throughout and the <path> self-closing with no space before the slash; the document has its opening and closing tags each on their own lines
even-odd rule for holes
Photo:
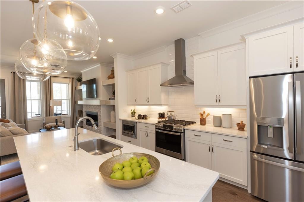
<svg viewBox="0 0 304 202">
<path fill-rule="evenodd" d="M 251 33 L 248 39 L 249 76 L 303 71 L 303 23 Z"/>
</svg>

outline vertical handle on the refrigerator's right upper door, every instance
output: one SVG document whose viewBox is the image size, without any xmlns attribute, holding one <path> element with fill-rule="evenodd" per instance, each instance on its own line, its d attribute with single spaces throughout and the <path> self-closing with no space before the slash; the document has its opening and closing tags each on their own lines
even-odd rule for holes
<svg viewBox="0 0 304 202">
<path fill-rule="evenodd" d="M 295 115 L 296 115 L 296 153 L 301 153 L 302 120 L 301 120 L 301 82 L 295 81 Z"/>
</svg>

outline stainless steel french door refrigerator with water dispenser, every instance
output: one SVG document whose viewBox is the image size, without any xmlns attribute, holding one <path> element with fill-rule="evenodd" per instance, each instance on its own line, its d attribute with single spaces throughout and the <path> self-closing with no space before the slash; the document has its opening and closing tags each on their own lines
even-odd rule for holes
<svg viewBox="0 0 304 202">
<path fill-rule="evenodd" d="M 304 73 L 250 78 L 249 88 L 251 194 L 304 201 Z"/>
</svg>

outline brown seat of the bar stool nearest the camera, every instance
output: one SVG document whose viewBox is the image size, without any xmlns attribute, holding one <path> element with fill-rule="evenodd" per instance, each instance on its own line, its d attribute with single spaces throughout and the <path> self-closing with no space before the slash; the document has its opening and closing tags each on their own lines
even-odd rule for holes
<svg viewBox="0 0 304 202">
<path fill-rule="evenodd" d="M 0 201 L 12 201 L 27 195 L 23 175 L 0 181 Z"/>
</svg>

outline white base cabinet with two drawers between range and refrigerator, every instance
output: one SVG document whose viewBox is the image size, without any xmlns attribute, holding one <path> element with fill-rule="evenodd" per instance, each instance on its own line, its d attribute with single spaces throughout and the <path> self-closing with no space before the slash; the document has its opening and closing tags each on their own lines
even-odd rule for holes
<svg viewBox="0 0 304 202">
<path fill-rule="evenodd" d="M 186 130 L 187 162 L 214 170 L 224 179 L 247 186 L 246 139 L 197 131 L 193 133 Z"/>
</svg>

